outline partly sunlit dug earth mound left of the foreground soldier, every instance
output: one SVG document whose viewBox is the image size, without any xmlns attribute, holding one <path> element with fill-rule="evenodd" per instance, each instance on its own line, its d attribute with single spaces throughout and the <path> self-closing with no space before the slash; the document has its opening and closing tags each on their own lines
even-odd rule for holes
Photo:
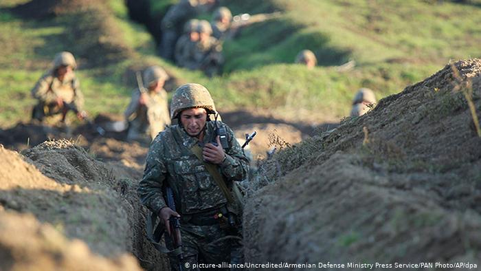
<svg viewBox="0 0 481 271">
<path fill-rule="evenodd" d="M 136 177 L 137 171 L 128 166 L 95 160 L 68 140 L 46 141 L 22 154 L 0 147 L 0 236 L 4 237 L 0 238 L 0 250 L 2 255 L 3 251 L 10 255 L 1 261 L 8 265 L 0 265 L 0 269 L 23 266 L 28 263 L 25 259 L 36 259 L 36 254 L 49 264 L 45 266 L 57 268 L 70 266 L 72 257 L 85 262 L 86 268 L 81 270 L 139 270 L 139 263 L 147 269 L 168 266 L 146 239 L 147 212 L 135 193 Z M 41 226 L 32 215 L 51 226 Z M 31 236 L 32 242 L 8 238 L 17 236 L 11 235 L 11 225 L 16 223 L 13 221 L 27 224 L 25 236 Z M 38 228 L 45 227 L 47 232 L 54 228 L 58 232 L 39 233 Z M 82 242 L 65 241 L 62 234 Z M 50 243 L 56 246 L 44 250 L 51 247 Z M 59 252 L 70 247 L 79 249 Z M 17 252 L 25 257 L 19 257 Z M 97 259 L 106 266 L 112 262 L 111 268 L 95 268 L 100 266 L 94 264 Z"/>
</svg>

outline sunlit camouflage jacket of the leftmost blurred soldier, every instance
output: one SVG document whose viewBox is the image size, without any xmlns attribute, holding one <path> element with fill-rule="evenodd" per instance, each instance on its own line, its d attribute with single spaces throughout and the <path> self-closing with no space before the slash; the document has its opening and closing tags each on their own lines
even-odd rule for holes
<svg viewBox="0 0 481 271">
<path fill-rule="evenodd" d="M 37 81 L 31 92 L 34 98 L 45 105 L 55 103 L 58 97 L 67 103 L 74 102 L 79 111 L 82 111 L 84 105 L 84 97 L 74 72 L 62 81 L 58 80 L 53 72 L 47 72 Z"/>
</svg>

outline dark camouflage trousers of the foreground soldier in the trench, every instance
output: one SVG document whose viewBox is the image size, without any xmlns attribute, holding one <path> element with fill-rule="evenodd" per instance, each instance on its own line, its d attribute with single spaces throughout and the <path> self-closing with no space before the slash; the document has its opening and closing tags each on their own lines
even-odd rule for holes
<svg viewBox="0 0 481 271">
<path fill-rule="evenodd" d="M 197 226 L 183 223 L 181 235 L 183 263 L 180 265 L 182 270 L 230 270 L 222 268 L 222 265 L 226 267 L 229 263 L 244 261 L 240 237 L 231 235 L 219 224 Z M 167 246 L 172 246 L 168 235 L 166 235 L 166 243 Z M 221 268 L 199 268 L 198 264 L 202 263 L 221 265 Z M 179 270 L 177 257 L 170 257 L 170 268 Z"/>
</svg>

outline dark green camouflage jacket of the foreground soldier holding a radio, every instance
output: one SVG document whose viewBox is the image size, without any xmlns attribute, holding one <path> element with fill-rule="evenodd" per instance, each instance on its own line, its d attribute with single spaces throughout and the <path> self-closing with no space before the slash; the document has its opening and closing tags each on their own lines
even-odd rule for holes
<svg viewBox="0 0 481 271">
<path fill-rule="evenodd" d="M 225 125 L 223 122 L 219 124 Z M 230 187 L 233 181 L 241 181 L 247 177 L 249 162 L 232 129 L 227 125 L 225 127 L 229 147 L 224 150 L 226 159 L 217 169 Z M 214 131 L 214 122 L 209 121 L 205 125 L 204 142 L 191 137 L 177 124 L 157 135 L 150 144 L 144 177 L 137 188 L 142 204 L 159 214 L 161 208 L 166 207 L 163 197 L 165 183 L 172 187 L 177 212 L 181 215 L 201 213 L 220 208 L 227 203 L 221 188 L 203 163 L 190 151 L 194 144 L 211 142 Z"/>
</svg>

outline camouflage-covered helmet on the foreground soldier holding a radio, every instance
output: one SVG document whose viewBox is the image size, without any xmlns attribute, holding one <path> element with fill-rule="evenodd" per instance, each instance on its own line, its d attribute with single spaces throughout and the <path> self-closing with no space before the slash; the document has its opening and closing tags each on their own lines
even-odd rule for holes
<svg viewBox="0 0 481 271">
<path fill-rule="evenodd" d="M 214 100 L 203 85 L 190 83 L 177 88 L 170 103 L 170 118 L 173 120 L 181 111 L 191 108 L 205 108 L 208 113 L 216 112 Z"/>
</svg>

